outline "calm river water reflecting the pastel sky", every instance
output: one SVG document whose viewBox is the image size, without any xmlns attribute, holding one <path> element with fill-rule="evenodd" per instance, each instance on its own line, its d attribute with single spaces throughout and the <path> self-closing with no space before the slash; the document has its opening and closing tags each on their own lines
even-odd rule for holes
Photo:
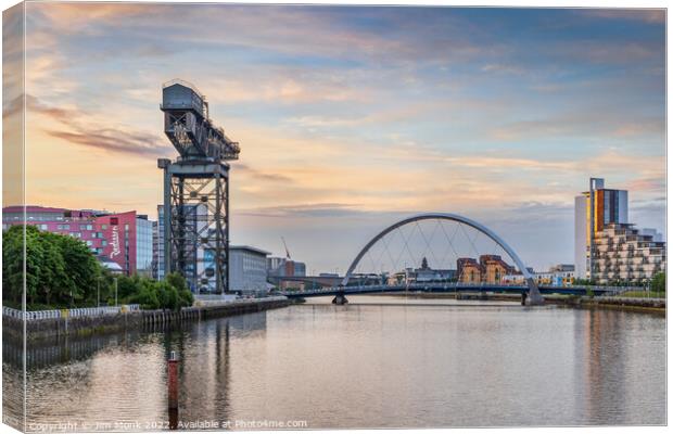
<svg viewBox="0 0 673 434">
<path fill-rule="evenodd" d="M 26 427 L 165 429 L 170 350 L 181 358 L 178 420 L 201 427 L 665 423 L 663 317 L 350 299 L 31 347 Z M 5 344 L 3 405 L 14 416 L 20 357 Z"/>
</svg>

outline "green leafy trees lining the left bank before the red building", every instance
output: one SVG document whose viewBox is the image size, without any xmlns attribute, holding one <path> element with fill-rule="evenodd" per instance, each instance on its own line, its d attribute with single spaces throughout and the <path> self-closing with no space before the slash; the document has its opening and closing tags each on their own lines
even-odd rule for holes
<svg viewBox="0 0 673 434">
<path fill-rule="evenodd" d="M 100 299 L 113 303 L 115 279 L 120 303 L 178 310 L 194 301 L 181 275 L 170 273 L 163 282 L 113 276 L 76 238 L 40 231 L 35 226 L 13 226 L 2 234 L 2 296 L 14 307 L 21 307 L 24 281 L 29 307 L 53 309 L 96 306 L 99 286 Z"/>
</svg>

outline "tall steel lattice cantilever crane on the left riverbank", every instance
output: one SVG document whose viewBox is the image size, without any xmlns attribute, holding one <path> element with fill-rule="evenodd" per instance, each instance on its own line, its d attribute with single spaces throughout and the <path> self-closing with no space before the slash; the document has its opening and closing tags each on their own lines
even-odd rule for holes
<svg viewBox="0 0 673 434">
<path fill-rule="evenodd" d="M 164 170 L 164 270 L 178 271 L 195 293 L 229 289 L 229 164 L 240 148 L 208 116 L 193 85 L 163 85 L 164 132 L 180 154 Z"/>
</svg>

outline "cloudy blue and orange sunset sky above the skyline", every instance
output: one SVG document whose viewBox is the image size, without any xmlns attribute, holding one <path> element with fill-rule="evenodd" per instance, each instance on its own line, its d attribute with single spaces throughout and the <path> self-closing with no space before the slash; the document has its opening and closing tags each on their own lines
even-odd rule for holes
<svg viewBox="0 0 673 434">
<path fill-rule="evenodd" d="M 592 176 L 665 233 L 664 38 L 663 10 L 26 3 L 26 201 L 155 218 L 156 158 L 177 156 L 161 89 L 181 78 L 241 145 L 234 244 L 284 237 L 343 272 L 384 227 L 446 212 L 536 269 L 572 263 Z"/>
</svg>

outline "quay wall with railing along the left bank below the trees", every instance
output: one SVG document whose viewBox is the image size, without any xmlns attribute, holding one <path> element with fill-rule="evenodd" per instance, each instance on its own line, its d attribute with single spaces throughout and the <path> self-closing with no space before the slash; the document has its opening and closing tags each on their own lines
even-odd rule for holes
<svg viewBox="0 0 673 434">
<path fill-rule="evenodd" d="M 2 316 L 3 337 L 23 340 L 24 324 L 27 341 L 42 341 L 64 336 L 90 336 L 105 333 L 118 333 L 130 330 L 154 330 L 182 322 L 201 321 L 209 318 L 276 309 L 292 304 L 285 297 L 240 299 L 234 302 L 183 308 L 173 310 L 122 310 L 115 315 L 41 318 L 23 320 L 8 315 Z"/>
</svg>

